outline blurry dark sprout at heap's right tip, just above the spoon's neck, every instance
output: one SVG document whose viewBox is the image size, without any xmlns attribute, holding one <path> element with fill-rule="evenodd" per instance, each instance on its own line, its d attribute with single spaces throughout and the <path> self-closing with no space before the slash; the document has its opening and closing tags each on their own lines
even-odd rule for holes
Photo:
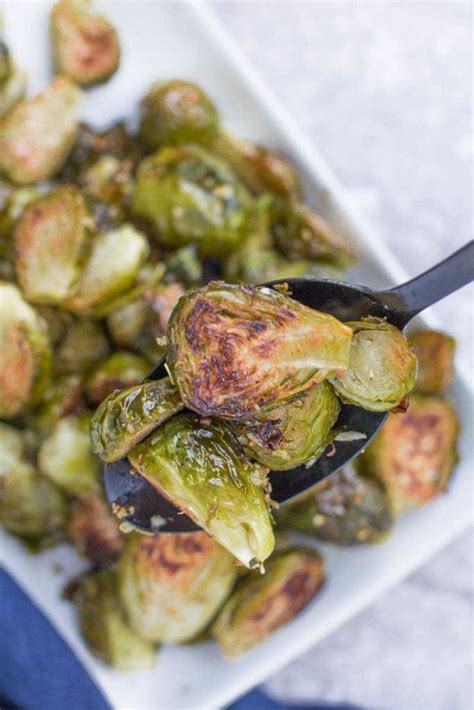
<svg viewBox="0 0 474 710">
<path fill-rule="evenodd" d="M 295 200 L 275 200 L 272 234 L 278 249 L 291 260 L 308 261 L 344 270 L 354 255 L 330 225 L 308 205 Z"/>
</svg>

